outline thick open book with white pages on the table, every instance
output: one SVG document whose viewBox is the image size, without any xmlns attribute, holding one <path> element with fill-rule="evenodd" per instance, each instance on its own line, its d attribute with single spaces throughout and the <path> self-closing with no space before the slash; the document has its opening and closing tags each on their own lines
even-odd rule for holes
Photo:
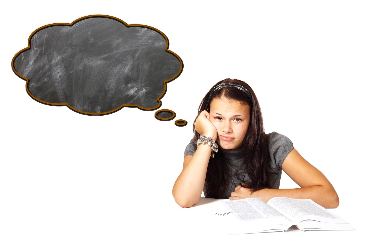
<svg viewBox="0 0 365 243">
<path fill-rule="evenodd" d="M 258 198 L 220 201 L 208 212 L 228 234 L 288 231 L 294 225 L 298 231 L 355 230 L 311 199 L 274 197 L 268 203 Z"/>
</svg>

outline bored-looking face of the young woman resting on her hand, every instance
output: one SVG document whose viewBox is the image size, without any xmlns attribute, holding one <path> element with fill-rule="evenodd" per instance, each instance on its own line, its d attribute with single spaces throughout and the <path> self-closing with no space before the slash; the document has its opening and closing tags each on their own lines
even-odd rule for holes
<svg viewBox="0 0 365 243">
<path fill-rule="evenodd" d="M 237 100 L 215 98 L 211 101 L 209 120 L 218 132 L 216 142 L 224 149 L 242 145 L 250 124 L 250 106 Z"/>
</svg>

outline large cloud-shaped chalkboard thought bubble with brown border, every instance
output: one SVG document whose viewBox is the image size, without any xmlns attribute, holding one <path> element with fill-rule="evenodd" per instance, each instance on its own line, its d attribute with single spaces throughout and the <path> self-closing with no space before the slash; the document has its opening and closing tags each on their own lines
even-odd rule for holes
<svg viewBox="0 0 365 243">
<path fill-rule="evenodd" d="M 153 27 L 89 15 L 35 30 L 12 69 L 43 104 L 85 115 L 123 107 L 150 111 L 161 106 L 167 83 L 183 71 L 181 58 L 168 48 L 168 38 Z"/>
</svg>

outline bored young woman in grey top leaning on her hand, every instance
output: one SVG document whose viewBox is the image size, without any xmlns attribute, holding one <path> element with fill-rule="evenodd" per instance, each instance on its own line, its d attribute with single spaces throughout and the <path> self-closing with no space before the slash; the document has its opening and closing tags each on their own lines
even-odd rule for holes
<svg viewBox="0 0 365 243">
<path fill-rule="evenodd" d="M 226 79 L 205 95 L 185 149 L 183 171 L 172 194 L 181 207 L 205 197 L 310 198 L 336 208 L 337 193 L 327 178 L 295 150 L 286 136 L 265 134 L 255 93 L 241 80 Z M 281 171 L 300 188 L 279 189 Z"/>
</svg>

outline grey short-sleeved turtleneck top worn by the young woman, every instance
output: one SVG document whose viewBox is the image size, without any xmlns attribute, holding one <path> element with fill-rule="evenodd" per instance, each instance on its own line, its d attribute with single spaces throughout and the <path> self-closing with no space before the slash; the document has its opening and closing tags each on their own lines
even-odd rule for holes
<svg viewBox="0 0 365 243">
<path fill-rule="evenodd" d="M 270 166 L 271 170 L 271 185 L 273 189 L 279 189 L 280 186 L 280 178 L 281 172 L 281 165 L 284 162 L 284 159 L 288 156 L 290 151 L 293 150 L 293 143 L 292 141 L 284 135 L 278 134 L 277 132 L 272 132 L 266 134 L 268 136 L 269 141 L 269 154 L 270 154 Z M 190 143 L 185 148 L 184 156 L 186 155 L 193 155 L 196 151 L 196 143 L 192 139 Z M 241 183 L 241 180 L 236 177 L 235 172 L 239 165 L 241 165 L 243 161 L 243 157 L 245 155 L 245 149 L 243 147 L 237 149 L 226 150 L 223 148 L 218 148 L 218 153 L 223 153 L 224 158 L 226 158 L 227 162 L 230 163 L 231 171 L 230 175 L 236 185 Z M 244 166 L 243 166 L 244 167 Z M 238 171 L 238 177 L 243 177 L 245 174 L 245 168 L 242 168 Z M 245 181 L 251 180 L 250 177 L 245 174 Z M 231 192 L 234 191 L 234 183 L 231 183 L 231 187 L 228 188 L 225 198 L 231 196 Z M 205 185 L 204 185 L 204 192 L 205 192 Z"/>
</svg>

